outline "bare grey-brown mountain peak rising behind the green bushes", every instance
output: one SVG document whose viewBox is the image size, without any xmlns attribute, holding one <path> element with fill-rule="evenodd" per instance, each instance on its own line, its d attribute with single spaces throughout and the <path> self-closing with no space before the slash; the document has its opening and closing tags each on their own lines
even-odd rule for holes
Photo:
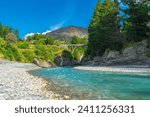
<svg viewBox="0 0 150 117">
<path fill-rule="evenodd" d="M 77 27 L 77 26 L 68 26 L 60 28 L 58 30 L 47 33 L 46 36 L 53 36 L 61 41 L 71 41 L 73 36 L 79 38 L 88 37 L 88 30 L 86 28 Z"/>
</svg>

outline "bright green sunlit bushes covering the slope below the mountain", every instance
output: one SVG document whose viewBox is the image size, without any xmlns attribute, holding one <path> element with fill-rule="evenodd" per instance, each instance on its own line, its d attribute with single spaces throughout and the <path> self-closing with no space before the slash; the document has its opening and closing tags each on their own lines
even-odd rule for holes
<svg viewBox="0 0 150 117">
<path fill-rule="evenodd" d="M 3 30 L 5 27 L 3 27 Z M 12 28 L 10 28 L 12 29 Z M 4 31 L 5 32 L 5 31 Z M 8 33 L 0 32 L 0 58 L 8 59 L 11 61 L 20 61 L 32 63 L 35 58 L 41 61 L 54 61 L 56 55 L 60 54 L 63 57 L 75 59 L 80 58 L 81 50 L 76 49 L 72 53 L 72 49 L 75 47 L 63 47 L 61 45 L 70 44 L 85 44 L 87 39 L 80 39 L 74 37 L 71 42 L 59 41 L 51 36 L 45 36 L 42 34 L 34 34 L 28 36 L 24 40 L 19 40 L 17 35 L 12 31 Z"/>
</svg>

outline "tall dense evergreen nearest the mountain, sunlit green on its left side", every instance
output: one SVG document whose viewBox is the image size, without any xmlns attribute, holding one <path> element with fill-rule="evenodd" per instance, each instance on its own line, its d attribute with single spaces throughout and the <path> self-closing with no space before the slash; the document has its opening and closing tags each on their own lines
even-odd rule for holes
<svg viewBox="0 0 150 117">
<path fill-rule="evenodd" d="M 121 42 L 117 0 L 98 1 L 88 32 L 88 54 L 91 56 L 101 56 L 108 48 L 119 49 Z"/>
</svg>

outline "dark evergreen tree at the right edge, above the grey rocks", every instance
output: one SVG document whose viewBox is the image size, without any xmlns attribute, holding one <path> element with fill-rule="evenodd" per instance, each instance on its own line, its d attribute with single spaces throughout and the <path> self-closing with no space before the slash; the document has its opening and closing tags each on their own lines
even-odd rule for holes
<svg viewBox="0 0 150 117">
<path fill-rule="evenodd" d="M 123 31 L 127 41 L 141 41 L 148 37 L 150 27 L 147 26 L 150 20 L 149 6 L 145 0 L 122 0 L 128 8 L 123 9 L 125 13 Z"/>
</svg>

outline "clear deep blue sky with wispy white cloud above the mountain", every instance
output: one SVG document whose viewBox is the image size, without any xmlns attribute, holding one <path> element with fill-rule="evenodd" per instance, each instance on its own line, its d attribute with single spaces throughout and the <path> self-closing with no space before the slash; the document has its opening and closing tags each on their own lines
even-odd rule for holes
<svg viewBox="0 0 150 117">
<path fill-rule="evenodd" d="M 20 37 L 66 26 L 88 27 L 97 0 L 0 0 L 0 22 Z"/>
</svg>

